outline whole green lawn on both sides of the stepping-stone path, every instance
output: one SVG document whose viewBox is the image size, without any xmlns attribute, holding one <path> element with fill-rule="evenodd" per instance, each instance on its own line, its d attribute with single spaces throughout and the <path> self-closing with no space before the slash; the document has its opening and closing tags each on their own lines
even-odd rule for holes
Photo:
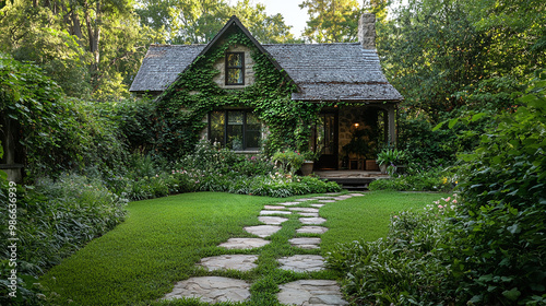
<svg viewBox="0 0 546 306">
<path fill-rule="evenodd" d="M 321 215 L 329 220 L 327 226 L 331 229 L 322 235 L 322 250 L 300 250 L 289 245 L 288 239 L 301 226 L 298 215 L 293 214 L 283 229 L 269 238 L 270 245 L 252 251 L 260 258 L 258 268 L 250 272 L 205 272 L 194 263 L 203 257 L 248 252 L 217 245 L 230 237 L 250 237 L 242 227 L 259 224 L 258 214 L 264 204 L 294 198 L 199 192 L 132 202 L 126 222 L 51 269 L 40 283 L 47 289 L 46 295 L 57 296 L 55 302 L 60 305 L 68 304 L 67 299 L 72 299 L 72 305 L 150 305 L 178 281 L 193 275 L 224 275 L 252 283 L 249 305 L 274 305 L 277 284 L 337 276 L 330 271 L 295 273 L 275 269 L 276 258 L 320 254 L 335 243 L 385 236 L 392 213 L 422 208 L 440 197 L 444 195 L 368 192 L 327 204 Z"/>
</svg>

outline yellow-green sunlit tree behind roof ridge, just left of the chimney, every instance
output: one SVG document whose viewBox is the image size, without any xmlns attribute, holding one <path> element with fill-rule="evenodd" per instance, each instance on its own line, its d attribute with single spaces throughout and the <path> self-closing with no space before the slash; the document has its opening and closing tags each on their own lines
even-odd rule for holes
<svg viewBox="0 0 546 306">
<path fill-rule="evenodd" d="M 304 36 L 312 43 L 347 43 L 358 37 L 358 20 L 363 13 L 357 0 L 305 0 L 309 21 Z"/>
</svg>

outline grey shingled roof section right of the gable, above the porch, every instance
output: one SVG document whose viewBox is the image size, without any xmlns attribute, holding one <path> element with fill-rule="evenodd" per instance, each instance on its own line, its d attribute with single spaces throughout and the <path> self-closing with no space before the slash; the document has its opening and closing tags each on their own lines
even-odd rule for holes
<svg viewBox="0 0 546 306">
<path fill-rule="evenodd" d="M 375 49 L 360 44 L 264 45 L 300 92 L 299 101 L 402 101 L 387 81 Z"/>
</svg>

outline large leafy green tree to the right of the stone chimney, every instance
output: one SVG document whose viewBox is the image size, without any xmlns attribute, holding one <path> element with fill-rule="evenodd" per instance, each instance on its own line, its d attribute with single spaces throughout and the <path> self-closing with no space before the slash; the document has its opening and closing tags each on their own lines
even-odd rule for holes
<svg viewBox="0 0 546 306">
<path fill-rule="evenodd" d="M 380 28 L 378 51 L 388 78 L 406 97 L 405 107 L 432 121 L 461 107 L 506 107 L 472 97 L 500 94 L 544 64 L 544 51 L 533 50 L 544 33 L 544 3 L 535 1 L 535 17 L 522 27 L 509 25 L 521 25 L 517 13 L 506 12 L 505 23 L 489 16 L 500 2 L 521 2 L 508 11 L 529 11 L 525 1 L 484 1 L 488 4 L 473 12 L 478 2 L 410 0 Z"/>
</svg>

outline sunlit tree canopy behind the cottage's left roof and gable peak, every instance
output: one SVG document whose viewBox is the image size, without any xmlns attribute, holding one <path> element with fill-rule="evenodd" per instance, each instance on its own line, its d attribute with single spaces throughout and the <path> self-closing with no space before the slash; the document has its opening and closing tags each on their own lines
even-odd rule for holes
<svg viewBox="0 0 546 306">
<path fill-rule="evenodd" d="M 119 99 L 150 44 L 207 43 L 234 14 L 261 43 L 295 42 L 282 15 L 250 0 L 14 0 L 0 9 L 0 51 L 38 64 L 70 96 Z"/>
</svg>

